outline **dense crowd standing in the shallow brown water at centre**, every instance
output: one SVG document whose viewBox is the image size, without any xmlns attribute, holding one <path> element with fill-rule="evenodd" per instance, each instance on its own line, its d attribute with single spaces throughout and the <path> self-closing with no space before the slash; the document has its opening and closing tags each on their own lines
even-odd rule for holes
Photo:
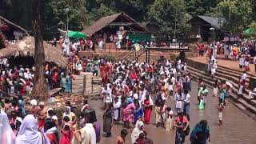
<svg viewBox="0 0 256 144">
<path fill-rule="evenodd" d="M 190 133 L 191 76 L 186 70 L 186 62 L 178 59 L 172 64 L 169 60 L 160 59 L 162 60 L 151 65 L 136 61 L 112 64 L 111 73 L 106 74 L 108 76 L 102 80 L 102 102 L 106 106 L 103 123 L 108 127 L 104 130 L 107 137 L 111 135 L 113 119 L 114 124 L 123 122 L 126 129 L 134 127 L 132 143 L 150 143 L 150 138 L 145 136 L 145 127 L 150 125 L 151 114 L 154 112 L 156 127 L 176 129 L 175 143 L 185 141 L 186 135 Z M 203 82 L 198 86 L 198 100 L 203 99 L 205 106 L 208 94 L 206 86 Z M 168 98 L 175 100 L 174 110 L 167 106 Z M 199 122 L 193 131 L 190 135 L 192 143 L 206 143 L 210 139 L 206 120 Z M 202 134 L 200 137 L 199 133 Z"/>
</svg>

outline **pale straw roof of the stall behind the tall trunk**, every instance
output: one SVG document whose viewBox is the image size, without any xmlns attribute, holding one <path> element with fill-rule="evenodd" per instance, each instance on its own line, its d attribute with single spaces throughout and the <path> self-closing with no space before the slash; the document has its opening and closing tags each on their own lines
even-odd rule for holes
<svg viewBox="0 0 256 144">
<path fill-rule="evenodd" d="M 45 49 L 46 62 L 54 62 L 58 66 L 66 67 L 67 58 L 63 55 L 62 50 L 43 42 Z M 9 58 L 11 56 L 34 57 L 34 37 L 26 37 L 14 45 L 6 46 L 0 50 L 0 58 Z"/>
</svg>

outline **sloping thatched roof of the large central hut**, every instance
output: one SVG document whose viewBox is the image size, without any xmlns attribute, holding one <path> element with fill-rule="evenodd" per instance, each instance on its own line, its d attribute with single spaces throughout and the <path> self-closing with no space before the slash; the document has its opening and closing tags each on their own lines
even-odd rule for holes
<svg viewBox="0 0 256 144">
<path fill-rule="evenodd" d="M 129 15 L 127 15 L 125 13 L 118 13 L 118 14 L 113 14 L 113 15 L 106 16 L 106 17 L 99 19 L 98 21 L 94 22 L 93 25 L 87 27 L 86 30 L 82 30 L 82 33 L 86 34 L 87 36 L 92 36 L 99 30 L 102 30 L 102 28 L 110 25 L 110 23 L 114 22 L 114 20 L 117 19 L 119 16 L 126 18 L 128 21 L 130 21 L 130 22 L 134 23 L 136 26 L 138 26 L 141 30 L 146 31 L 145 27 L 141 26 L 133 18 L 130 18 Z"/>
</svg>

